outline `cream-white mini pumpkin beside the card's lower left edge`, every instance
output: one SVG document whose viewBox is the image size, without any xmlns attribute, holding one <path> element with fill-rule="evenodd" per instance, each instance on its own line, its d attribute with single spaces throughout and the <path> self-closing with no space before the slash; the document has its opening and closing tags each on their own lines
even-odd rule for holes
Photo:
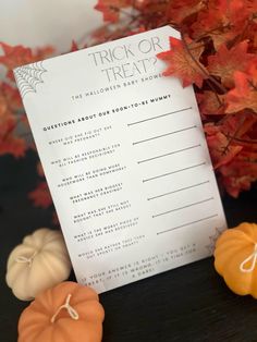
<svg viewBox="0 0 257 342">
<path fill-rule="evenodd" d="M 71 261 L 62 233 L 41 228 L 11 252 L 7 283 L 17 298 L 29 301 L 68 279 L 70 272 Z"/>
</svg>

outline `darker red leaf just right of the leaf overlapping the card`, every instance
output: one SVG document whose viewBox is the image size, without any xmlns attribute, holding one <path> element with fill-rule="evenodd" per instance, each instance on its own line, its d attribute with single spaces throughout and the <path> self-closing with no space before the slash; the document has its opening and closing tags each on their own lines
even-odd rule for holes
<svg viewBox="0 0 257 342">
<path fill-rule="evenodd" d="M 231 88 L 234 85 L 234 72 L 245 72 L 255 54 L 247 53 L 248 42 L 241 41 L 230 50 L 223 44 L 215 56 L 208 57 L 208 71 L 221 78 L 222 84 Z"/>
</svg>

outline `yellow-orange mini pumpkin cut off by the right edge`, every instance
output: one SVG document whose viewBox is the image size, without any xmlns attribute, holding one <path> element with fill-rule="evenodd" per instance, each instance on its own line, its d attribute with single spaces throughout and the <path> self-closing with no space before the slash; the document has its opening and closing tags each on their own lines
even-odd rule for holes
<svg viewBox="0 0 257 342">
<path fill-rule="evenodd" d="M 257 298 L 257 224 L 241 223 L 217 240 L 215 268 L 236 294 Z"/>
</svg>

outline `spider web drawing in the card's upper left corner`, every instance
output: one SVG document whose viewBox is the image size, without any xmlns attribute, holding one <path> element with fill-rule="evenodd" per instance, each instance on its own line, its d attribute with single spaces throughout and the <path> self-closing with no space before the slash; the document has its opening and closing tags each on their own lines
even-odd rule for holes
<svg viewBox="0 0 257 342">
<path fill-rule="evenodd" d="M 42 74 L 45 72 L 47 72 L 47 70 L 42 66 L 41 61 L 20 66 L 14 70 L 15 80 L 22 98 L 28 93 L 37 93 L 38 84 L 44 83 Z"/>
</svg>

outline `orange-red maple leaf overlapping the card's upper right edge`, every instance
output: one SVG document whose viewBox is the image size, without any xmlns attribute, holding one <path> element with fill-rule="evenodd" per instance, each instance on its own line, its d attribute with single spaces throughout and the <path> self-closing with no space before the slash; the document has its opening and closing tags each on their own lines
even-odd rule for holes
<svg viewBox="0 0 257 342">
<path fill-rule="evenodd" d="M 170 47 L 171 50 L 157 54 L 159 59 L 168 62 L 168 68 L 163 75 L 172 75 L 180 78 L 183 87 L 193 83 L 201 87 L 203 81 L 208 78 L 208 71 L 199 62 L 204 47 L 191 42 L 186 48 L 182 40 L 173 37 L 170 37 Z"/>
</svg>

